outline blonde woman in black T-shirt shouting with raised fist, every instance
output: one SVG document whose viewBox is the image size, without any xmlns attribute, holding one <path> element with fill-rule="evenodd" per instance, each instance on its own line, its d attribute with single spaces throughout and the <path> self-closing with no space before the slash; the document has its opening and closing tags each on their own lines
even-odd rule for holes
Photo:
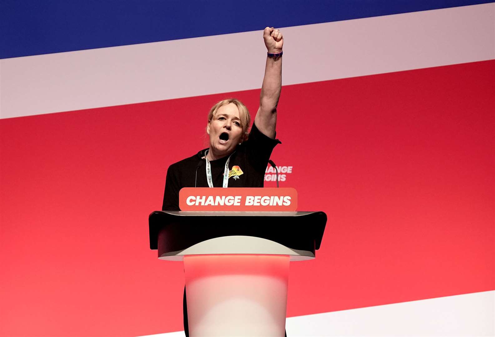
<svg viewBox="0 0 495 337">
<path fill-rule="evenodd" d="M 209 147 L 170 165 L 162 210 L 179 210 L 179 191 L 183 187 L 263 187 L 268 160 L 280 143 L 275 139 L 275 127 L 284 39 L 280 30 L 266 27 L 263 40 L 268 51 L 265 75 L 250 132 L 249 111 L 241 101 L 230 98 L 213 105 L 206 125 Z M 185 291 L 184 330 L 189 336 Z"/>
</svg>

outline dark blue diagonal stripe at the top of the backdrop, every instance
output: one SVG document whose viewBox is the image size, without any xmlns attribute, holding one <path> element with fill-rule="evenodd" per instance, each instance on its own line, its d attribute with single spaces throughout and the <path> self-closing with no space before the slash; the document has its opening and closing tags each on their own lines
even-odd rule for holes
<svg viewBox="0 0 495 337">
<path fill-rule="evenodd" d="M 494 0 L 1 0 L 0 58 L 125 46 Z"/>
</svg>

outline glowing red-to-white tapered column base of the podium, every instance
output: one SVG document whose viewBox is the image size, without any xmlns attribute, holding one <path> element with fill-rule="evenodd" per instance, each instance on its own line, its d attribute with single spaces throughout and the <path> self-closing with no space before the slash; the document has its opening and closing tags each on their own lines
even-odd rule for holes
<svg viewBox="0 0 495 337">
<path fill-rule="evenodd" d="M 190 336 L 284 336 L 289 256 L 184 257 Z"/>
</svg>

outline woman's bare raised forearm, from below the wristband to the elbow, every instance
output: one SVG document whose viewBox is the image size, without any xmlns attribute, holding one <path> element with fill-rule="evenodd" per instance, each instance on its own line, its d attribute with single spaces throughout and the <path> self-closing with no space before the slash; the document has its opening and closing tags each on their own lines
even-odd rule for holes
<svg viewBox="0 0 495 337">
<path fill-rule="evenodd" d="M 265 76 L 259 96 L 259 106 L 265 111 L 276 110 L 282 90 L 282 57 L 267 57 Z"/>
</svg>

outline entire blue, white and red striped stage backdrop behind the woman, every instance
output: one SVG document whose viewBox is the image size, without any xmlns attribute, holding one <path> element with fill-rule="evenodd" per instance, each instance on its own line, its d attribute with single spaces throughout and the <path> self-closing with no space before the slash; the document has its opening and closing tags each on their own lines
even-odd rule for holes
<svg viewBox="0 0 495 337">
<path fill-rule="evenodd" d="M 1 336 L 183 329 L 148 214 L 215 102 L 254 117 L 265 26 L 280 185 L 328 215 L 288 335 L 494 334 L 493 3 L 69 2 L 2 1 Z"/>
</svg>

